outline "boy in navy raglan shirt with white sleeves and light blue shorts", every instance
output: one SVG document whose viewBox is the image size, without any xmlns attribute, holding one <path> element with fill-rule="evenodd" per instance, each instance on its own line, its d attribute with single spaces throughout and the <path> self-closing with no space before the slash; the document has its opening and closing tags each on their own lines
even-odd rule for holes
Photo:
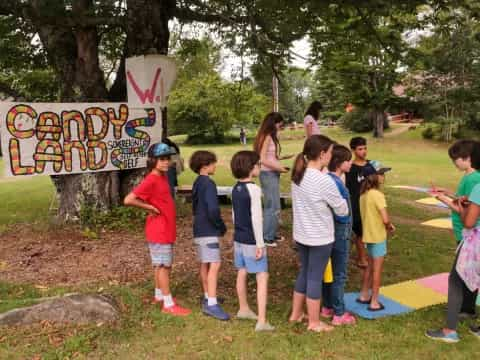
<svg viewBox="0 0 480 360">
<path fill-rule="evenodd" d="M 257 320 L 255 331 L 272 331 L 267 322 L 268 261 L 263 240 L 262 192 L 253 178 L 260 173 L 260 157 L 253 151 L 240 151 L 231 161 L 233 176 L 238 179 L 232 190 L 234 262 L 238 269 L 237 318 Z M 247 274 L 257 277 L 258 317 L 247 302 Z"/>
</svg>

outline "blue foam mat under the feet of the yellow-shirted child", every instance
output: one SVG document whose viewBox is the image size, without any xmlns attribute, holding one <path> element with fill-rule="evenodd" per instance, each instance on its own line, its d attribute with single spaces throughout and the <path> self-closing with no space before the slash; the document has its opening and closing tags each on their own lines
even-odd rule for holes
<svg viewBox="0 0 480 360">
<path fill-rule="evenodd" d="M 345 308 L 347 311 L 357 314 L 364 319 L 377 319 L 386 316 L 405 314 L 415 309 L 402 305 L 390 298 L 380 295 L 380 302 L 385 306 L 381 311 L 369 311 L 367 304 L 359 304 L 355 300 L 358 299 L 359 293 L 345 294 Z"/>
</svg>

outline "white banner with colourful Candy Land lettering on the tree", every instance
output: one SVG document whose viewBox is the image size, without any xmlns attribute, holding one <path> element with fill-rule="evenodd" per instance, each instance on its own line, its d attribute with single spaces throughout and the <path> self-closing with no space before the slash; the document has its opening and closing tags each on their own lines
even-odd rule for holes
<svg viewBox="0 0 480 360">
<path fill-rule="evenodd" d="M 146 166 L 161 112 L 125 103 L 0 103 L 5 175 L 62 175 Z"/>
</svg>

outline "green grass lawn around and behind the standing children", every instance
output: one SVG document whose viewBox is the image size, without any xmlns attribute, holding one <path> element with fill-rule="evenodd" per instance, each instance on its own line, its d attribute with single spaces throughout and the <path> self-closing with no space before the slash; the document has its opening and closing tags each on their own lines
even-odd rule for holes
<svg viewBox="0 0 480 360">
<path fill-rule="evenodd" d="M 337 129 L 328 129 L 326 133 L 341 143 L 347 143 L 351 136 Z M 301 150 L 300 135 L 300 132 L 288 131 L 282 134 L 284 154 Z M 216 182 L 231 185 L 229 159 L 242 147 L 182 146 L 181 150 L 187 159 L 193 151 L 201 148 L 215 151 L 219 158 Z M 417 206 L 413 200 L 420 198 L 421 194 L 388 187 L 392 184 L 427 186 L 431 181 L 454 187 L 460 174 L 453 168 L 446 149 L 445 144 L 422 140 L 419 130 L 382 141 L 369 139 L 369 157 L 393 167 L 387 176 L 385 190 L 397 233 L 389 242 L 385 284 L 448 271 L 451 266 L 455 249 L 452 234 L 419 225 L 423 220 L 438 216 L 438 211 Z M 191 184 L 193 179 L 194 174 L 186 171 L 180 182 Z M 285 176 L 282 188 L 288 190 L 288 187 Z M 0 224 L 4 227 L 48 218 L 52 197 L 48 178 L 15 182 L 0 179 L 0 195 L 4 199 L 0 202 Z M 283 219 L 283 231 L 288 234 L 290 210 L 284 212 Z M 275 257 L 275 249 L 270 252 L 270 257 Z M 224 266 L 232 264 L 225 263 Z M 195 264 L 192 264 L 191 276 L 187 280 L 176 282 L 174 278 L 173 284 L 175 294 L 195 309 L 186 319 L 164 316 L 158 309 L 146 306 L 142 298 L 152 291 L 148 281 L 53 287 L 46 291 L 33 284 L 0 282 L 0 311 L 27 305 L 32 298 L 39 296 L 66 291 L 97 291 L 99 287 L 113 294 L 122 308 L 122 319 L 113 326 L 56 328 L 44 324 L 34 328 L 0 329 L 0 359 L 33 358 L 38 354 L 45 359 L 461 359 L 478 354 L 479 342 L 468 335 L 465 325 L 460 327 L 462 342 L 456 345 L 434 343 L 424 337 L 425 329 L 441 326 L 444 305 L 377 321 L 360 320 L 355 327 L 337 328 L 330 334 L 307 333 L 304 326 L 290 325 L 286 321 L 295 268 L 272 261 L 270 272 L 272 299 L 268 310 L 271 322 L 277 326 L 277 331 L 271 334 L 255 334 L 252 323 L 236 320 L 220 323 L 202 316 L 197 300 L 191 296 L 191 289 L 198 288 Z M 233 283 L 232 279 L 226 280 L 222 280 L 220 288 L 227 296 L 226 309 L 234 313 Z M 359 274 L 352 267 L 348 289 L 358 289 L 358 286 Z"/>
</svg>

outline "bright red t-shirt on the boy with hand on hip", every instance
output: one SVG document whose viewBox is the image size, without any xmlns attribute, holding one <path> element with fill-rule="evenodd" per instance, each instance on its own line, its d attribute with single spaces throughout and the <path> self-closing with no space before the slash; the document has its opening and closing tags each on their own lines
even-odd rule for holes
<svg viewBox="0 0 480 360">
<path fill-rule="evenodd" d="M 167 177 L 152 172 L 133 190 L 133 193 L 160 211 L 159 215 L 147 216 L 145 222 L 147 241 L 173 244 L 177 238 L 176 214 Z"/>
</svg>

